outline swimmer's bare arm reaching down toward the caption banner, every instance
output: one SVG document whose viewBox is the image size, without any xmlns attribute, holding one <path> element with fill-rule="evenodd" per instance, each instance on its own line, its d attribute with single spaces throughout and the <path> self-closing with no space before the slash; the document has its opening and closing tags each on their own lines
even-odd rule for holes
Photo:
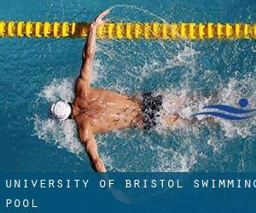
<svg viewBox="0 0 256 213">
<path fill-rule="evenodd" d="M 79 138 L 84 144 L 85 152 L 90 158 L 92 169 L 97 172 L 106 172 L 105 166 L 98 153 L 95 137 L 88 122 L 79 127 Z"/>
</svg>

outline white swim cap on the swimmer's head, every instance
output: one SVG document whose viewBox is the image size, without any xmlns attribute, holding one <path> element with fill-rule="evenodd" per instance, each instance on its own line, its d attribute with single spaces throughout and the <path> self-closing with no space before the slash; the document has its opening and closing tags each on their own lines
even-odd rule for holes
<svg viewBox="0 0 256 213">
<path fill-rule="evenodd" d="M 50 106 L 50 117 L 55 118 L 56 120 L 66 120 L 71 112 L 72 108 L 65 101 L 58 101 L 52 103 Z"/>
</svg>

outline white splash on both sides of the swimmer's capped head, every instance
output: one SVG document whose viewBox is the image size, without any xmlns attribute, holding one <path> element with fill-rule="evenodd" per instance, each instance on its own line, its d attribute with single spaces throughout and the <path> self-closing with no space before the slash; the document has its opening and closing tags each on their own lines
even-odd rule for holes
<svg viewBox="0 0 256 213">
<path fill-rule="evenodd" d="M 42 102 L 47 105 L 52 101 L 72 101 L 73 100 L 73 80 L 67 78 L 54 79 L 49 85 L 38 94 Z M 44 109 L 47 111 L 47 109 Z M 51 118 L 42 118 L 38 114 L 34 120 L 34 135 L 49 143 L 54 143 L 59 148 L 66 148 L 68 152 L 79 155 L 84 149 L 80 144 L 76 126 L 72 120 L 58 122 Z"/>
</svg>

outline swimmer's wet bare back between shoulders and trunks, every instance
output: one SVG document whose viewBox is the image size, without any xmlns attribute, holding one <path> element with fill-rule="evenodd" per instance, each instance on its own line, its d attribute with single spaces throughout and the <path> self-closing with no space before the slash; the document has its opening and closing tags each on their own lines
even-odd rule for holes
<svg viewBox="0 0 256 213">
<path fill-rule="evenodd" d="M 131 96 L 121 95 L 107 89 L 89 88 L 77 94 L 74 102 L 85 113 L 75 118 L 77 123 L 90 122 L 94 133 L 124 129 L 142 124 L 140 102 Z M 84 111 L 84 112 L 85 112 Z"/>
</svg>

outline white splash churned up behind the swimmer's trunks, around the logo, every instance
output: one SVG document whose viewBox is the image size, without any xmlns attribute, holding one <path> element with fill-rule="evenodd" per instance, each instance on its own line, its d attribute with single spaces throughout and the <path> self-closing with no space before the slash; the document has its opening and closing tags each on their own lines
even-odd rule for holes
<svg viewBox="0 0 256 213">
<path fill-rule="evenodd" d="M 248 87 L 250 85 L 250 87 Z M 256 125 L 256 118 L 250 118 L 245 122 L 234 122 L 230 120 L 225 120 L 222 118 L 212 118 L 211 116 L 200 115 L 196 119 L 201 121 L 201 123 L 192 123 L 191 115 L 195 112 L 200 112 L 202 107 L 211 104 L 225 104 L 231 106 L 237 106 L 238 101 L 241 97 L 246 95 L 247 100 L 251 103 L 255 103 L 256 81 L 253 78 L 245 77 L 240 81 L 231 78 L 226 86 L 220 87 L 218 93 L 215 95 L 203 96 L 191 92 L 191 89 L 186 88 L 184 85 L 182 89 L 169 88 L 165 91 L 158 91 L 157 94 L 162 94 L 163 99 L 163 109 L 160 112 L 160 118 L 158 119 L 157 128 L 159 132 L 166 130 L 177 130 L 186 129 L 195 131 L 195 128 L 200 129 L 201 124 L 207 124 L 208 128 L 211 129 L 214 123 L 219 124 L 224 130 L 224 136 L 228 138 L 234 138 L 236 136 L 241 136 L 241 138 L 246 138 L 252 134 L 253 127 Z M 251 88 L 251 89 L 250 89 Z M 245 94 L 247 91 L 247 94 Z M 250 106 L 255 108 L 255 104 Z M 209 110 L 204 110 L 207 112 Z M 166 124 L 166 118 L 174 113 L 178 113 L 180 119 L 177 120 L 175 124 L 169 126 Z M 207 121 L 206 118 L 212 118 L 211 121 Z"/>
</svg>

